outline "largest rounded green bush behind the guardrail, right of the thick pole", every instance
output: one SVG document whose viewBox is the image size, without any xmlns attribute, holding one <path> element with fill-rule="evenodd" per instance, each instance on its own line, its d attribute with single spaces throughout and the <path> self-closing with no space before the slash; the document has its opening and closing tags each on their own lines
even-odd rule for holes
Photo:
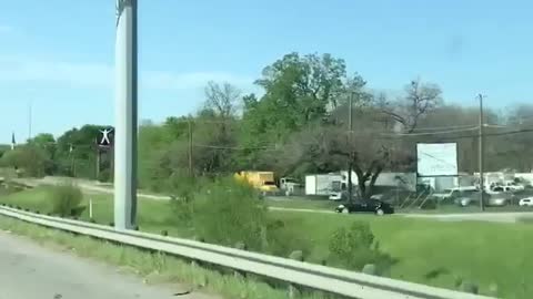
<svg viewBox="0 0 533 299">
<path fill-rule="evenodd" d="M 266 208 L 248 184 L 233 177 L 207 184 L 194 194 L 192 207 L 194 229 L 207 241 L 242 241 L 252 250 L 266 247 Z"/>
</svg>

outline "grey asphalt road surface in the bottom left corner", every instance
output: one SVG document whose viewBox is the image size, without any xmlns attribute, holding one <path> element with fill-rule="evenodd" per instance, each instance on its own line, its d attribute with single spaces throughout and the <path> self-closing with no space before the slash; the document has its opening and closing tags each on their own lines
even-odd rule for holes
<svg viewBox="0 0 533 299">
<path fill-rule="evenodd" d="M 54 251 L 0 230 L 0 299 L 207 299 L 144 285 L 110 266 Z"/>
</svg>

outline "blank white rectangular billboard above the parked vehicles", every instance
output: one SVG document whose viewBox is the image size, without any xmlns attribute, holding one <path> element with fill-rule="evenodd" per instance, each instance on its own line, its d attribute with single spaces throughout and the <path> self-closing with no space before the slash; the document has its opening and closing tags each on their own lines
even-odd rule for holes
<svg viewBox="0 0 533 299">
<path fill-rule="evenodd" d="M 419 143 L 416 157 L 419 176 L 457 175 L 456 143 Z"/>
</svg>

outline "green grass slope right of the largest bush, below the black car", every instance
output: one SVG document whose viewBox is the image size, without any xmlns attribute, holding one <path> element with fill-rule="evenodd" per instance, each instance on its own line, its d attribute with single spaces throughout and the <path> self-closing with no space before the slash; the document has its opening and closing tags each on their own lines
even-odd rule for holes
<svg viewBox="0 0 533 299">
<path fill-rule="evenodd" d="M 309 259 L 328 256 L 328 239 L 340 225 L 353 219 L 370 223 L 381 248 L 398 262 L 390 276 L 436 287 L 454 288 L 456 278 L 479 283 L 482 292 L 496 283 L 499 297 L 533 298 L 533 226 L 527 224 L 493 224 L 481 221 L 444 223 L 399 216 L 312 215 L 276 213 L 280 219 L 293 221 L 299 231 L 313 244 Z M 298 223 L 294 219 L 299 219 Z M 432 271 L 446 275 L 429 279 Z"/>
</svg>

